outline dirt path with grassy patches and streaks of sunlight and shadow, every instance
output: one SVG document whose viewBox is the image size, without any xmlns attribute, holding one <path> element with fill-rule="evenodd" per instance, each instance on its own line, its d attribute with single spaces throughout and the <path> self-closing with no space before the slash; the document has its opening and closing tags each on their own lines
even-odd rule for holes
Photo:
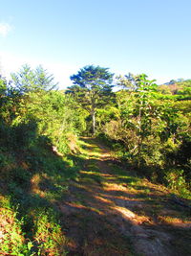
<svg viewBox="0 0 191 256">
<path fill-rule="evenodd" d="M 82 147 L 83 168 L 59 204 L 68 255 L 190 255 L 188 209 L 119 166 L 96 140 Z"/>
</svg>

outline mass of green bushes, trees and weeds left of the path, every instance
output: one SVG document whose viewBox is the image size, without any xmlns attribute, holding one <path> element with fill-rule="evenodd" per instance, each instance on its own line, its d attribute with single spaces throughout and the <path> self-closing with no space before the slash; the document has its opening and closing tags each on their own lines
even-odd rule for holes
<svg viewBox="0 0 191 256">
<path fill-rule="evenodd" d="M 86 128 L 84 111 L 50 90 L 53 77 L 41 67 L 24 66 L 12 79 L 0 79 L 0 218 L 9 222 L 0 224 L 0 251 L 66 255 L 53 201 L 64 197 L 68 180 L 77 176 L 77 160 L 67 153 L 77 147 L 75 134 Z"/>
</svg>

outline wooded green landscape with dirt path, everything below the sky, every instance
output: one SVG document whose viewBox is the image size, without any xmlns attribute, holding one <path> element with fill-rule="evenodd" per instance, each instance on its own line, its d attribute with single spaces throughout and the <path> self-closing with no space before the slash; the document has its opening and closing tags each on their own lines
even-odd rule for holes
<svg viewBox="0 0 191 256">
<path fill-rule="evenodd" d="M 0 254 L 189 255 L 191 101 L 88 65 L 0 77 Z"/>
</svg>

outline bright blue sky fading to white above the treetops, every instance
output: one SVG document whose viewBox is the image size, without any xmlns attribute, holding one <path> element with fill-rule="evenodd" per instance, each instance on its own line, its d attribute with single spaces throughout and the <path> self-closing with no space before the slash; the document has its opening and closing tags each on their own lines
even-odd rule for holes
<svg viewBox="0 0 191 256">
<path fill-rule="evenodd" d="M 190 0 L 0 0 L 0 74 L 41 64 L 63 89 L 86 65 L 191 79 Z"/>
</svg>

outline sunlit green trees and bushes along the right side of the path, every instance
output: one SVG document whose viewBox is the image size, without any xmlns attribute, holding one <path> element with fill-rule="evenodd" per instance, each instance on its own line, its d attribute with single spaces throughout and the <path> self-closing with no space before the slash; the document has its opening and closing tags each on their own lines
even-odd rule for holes
<svg viewBox="0 0 191 256">
<path fill-rule="evenodd" d="M 159 182 L 172 183 L 166 170 L 172 174 L 182 170 L 176 184 L 183 179 L 182 188 L 187 190 L 191 175 L 190 102 L 179 102 L 175 97 L 164 100 L 157 85 L 145 75 L 120 77 L 118 82 L 124 82 L 125 88 L 117 92 L 120 114 L 102 129 L 117 155 L 135 165 L 140 174 Z M 179 192 L 185 196 L 183 189 Z"/>
</svg>

